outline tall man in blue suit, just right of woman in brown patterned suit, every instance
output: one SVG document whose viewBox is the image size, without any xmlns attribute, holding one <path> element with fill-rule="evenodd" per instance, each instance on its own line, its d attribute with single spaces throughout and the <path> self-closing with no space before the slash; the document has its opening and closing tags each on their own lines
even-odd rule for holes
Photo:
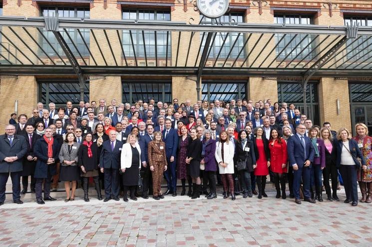
<svg viewBox="0 0 372 247">
<path fill-rule="evenodd" d="M 165 195 L 172 194 L 172 196 L 177 196 L 176 151 L 178 147 L 178 132 L 172 128 L 172 121 L 170 119 L 165 120 L 165 129 L 162 134 L 168 162 L 168 169 L 164 172 L 168 185 Z"/>
</svg>

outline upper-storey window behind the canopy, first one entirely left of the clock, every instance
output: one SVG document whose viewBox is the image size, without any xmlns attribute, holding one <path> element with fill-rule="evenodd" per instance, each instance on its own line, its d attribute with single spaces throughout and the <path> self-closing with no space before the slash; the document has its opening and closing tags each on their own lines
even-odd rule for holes
<svg viewBox="0 0 372 247">
<path fill-rule="evenodd" d="M 170 20 L 169 10 L 149 10 L 149 9 L 123 9 L 123 20 Z M 155 57 L 155 45 L 157 57 L 166 57 L 167 52 L 167 32 L 144 31 L 146 56 Z M 132 30 L 134 52 L 137 57 L 144 57 L 142 31 Z M 133 46 L 128 30 L 123 30 L 122 45 L 125 56 L 134 56 Z M 168 57 L 171 56 L 171 34 L 168 34 Z"/>
</svg>

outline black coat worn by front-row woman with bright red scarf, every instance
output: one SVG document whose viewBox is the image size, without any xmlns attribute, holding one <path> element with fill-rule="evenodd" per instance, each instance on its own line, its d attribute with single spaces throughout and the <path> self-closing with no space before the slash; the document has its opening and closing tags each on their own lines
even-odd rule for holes
<svg viewBox="0 0 372 247">
<path fill-rule="evenodd" d="M 98 163 L 99 163 L 99 149 L 96 144 L 96 142 L 93 142 L 90 146 L 90 149 L 92 150 L 92 157 L 88 157 L 88 146 L 85 146 L 84 144 L 80 144 L 79 150 L 77 152 L 79 160 L 78 165 L 84 166 L 85 171 L 92 171 L 98 169 Z"/>
</svg>

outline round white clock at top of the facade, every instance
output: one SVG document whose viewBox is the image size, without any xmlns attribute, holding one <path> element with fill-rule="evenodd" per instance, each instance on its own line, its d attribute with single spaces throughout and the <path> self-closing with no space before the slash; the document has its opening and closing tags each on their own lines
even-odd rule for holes
<svg viewBox="0 0 372 247">
<path fill-rule="evenodd" d="M 229 8 L 229 0 L 196 0 L 201 14 L 209 18 L 218 18 Z"/>
</svg>

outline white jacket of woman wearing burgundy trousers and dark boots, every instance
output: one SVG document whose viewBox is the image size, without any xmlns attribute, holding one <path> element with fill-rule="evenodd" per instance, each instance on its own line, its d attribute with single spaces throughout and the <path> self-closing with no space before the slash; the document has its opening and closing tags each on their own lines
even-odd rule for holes
<svg viewBox="0 0 372 247">
<path fill-rule="evenodd" d="M 221 147 L 224 145 L 224 163 L 227 163 L 228 165 L 226 167 L 222 167 L 219 163 L 222 161 L 222 153 L 221 153 Z M 214 154 L 217 163 L 218 168 L 220 169 L 220 174 L 233 174 L 234 173 L 234 143 L 229 141 L 229 144 L 226 142 L 221 143 L 219 141 L 216 142 L 216 152 Z"/>
</svg>

